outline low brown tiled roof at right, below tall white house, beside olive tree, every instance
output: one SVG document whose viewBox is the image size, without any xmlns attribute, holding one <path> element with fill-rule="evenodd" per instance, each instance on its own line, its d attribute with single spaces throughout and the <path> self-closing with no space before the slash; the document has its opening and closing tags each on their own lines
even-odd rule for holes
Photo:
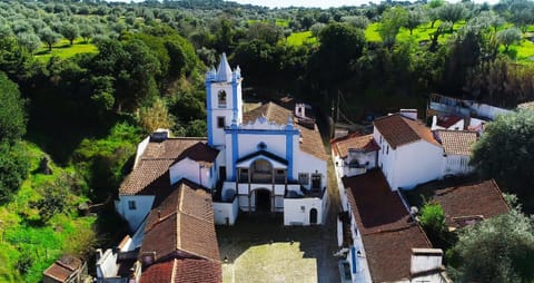
<svg viewBox="0 0 534 283">
<path fill-rule="evenodd" d="M 510 211 L 495 180 L 484 180 L 437 189 L 433 197 L 442 205 L 449 227 L 462 227 L 454 218 L 482 216 L 490 218 Z"/>
</svg>

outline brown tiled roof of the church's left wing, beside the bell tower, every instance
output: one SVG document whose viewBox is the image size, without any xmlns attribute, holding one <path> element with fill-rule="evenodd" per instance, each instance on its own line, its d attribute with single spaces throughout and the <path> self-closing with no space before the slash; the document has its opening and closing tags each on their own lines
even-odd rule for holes
<svg viewBox="0 0 534 283">
<path fill-rule="evenodd" d="M 207 146 L 205 138 L 168 138 L 150 142 L 137 166 L 119 187 L 120 195 L 156 195 L 168 191 L 169 167 L 186 157 L 211 165 L 218 150 Z"/>
</svg>

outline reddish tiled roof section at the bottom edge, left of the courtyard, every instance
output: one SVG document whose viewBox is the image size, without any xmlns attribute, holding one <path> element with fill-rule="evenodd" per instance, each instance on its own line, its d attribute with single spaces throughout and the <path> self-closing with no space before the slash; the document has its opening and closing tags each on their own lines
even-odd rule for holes
<svg viewBox="0 0 534 283">
<path fill-rule="evenodd" d="M 220 283 L 220 263 L 208 260 L 171 260 L 150 265 L 141 274 L 141 283 Z"/>
</svg>

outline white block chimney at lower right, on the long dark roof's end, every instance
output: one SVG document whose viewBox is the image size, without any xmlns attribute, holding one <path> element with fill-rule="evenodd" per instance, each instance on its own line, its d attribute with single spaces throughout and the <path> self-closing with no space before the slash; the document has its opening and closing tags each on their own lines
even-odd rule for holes
<svg viewBox="0 0 534 283">
<path fill-rule="evenodd" d="M 409 272 L 412 276 L 442 271 L 443 251 L 441 248 L 412 248 L 412 263 Z"/>
</svg>

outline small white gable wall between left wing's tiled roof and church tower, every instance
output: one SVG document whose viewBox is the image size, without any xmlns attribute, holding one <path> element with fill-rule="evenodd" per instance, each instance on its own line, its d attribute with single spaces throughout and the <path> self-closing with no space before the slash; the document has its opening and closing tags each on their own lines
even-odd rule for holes
<svg viewBox="0 0 534 283">
<path fill-rule="evenodd" d="M 169 168 L 170 184 L 176 184 L 182 178 L 188 178 L 201 186 L 212 188 L 217 182 L 210 173 L 211 167 L 201 166 L 199 163 L 184 158 Z"/>
</svg>

